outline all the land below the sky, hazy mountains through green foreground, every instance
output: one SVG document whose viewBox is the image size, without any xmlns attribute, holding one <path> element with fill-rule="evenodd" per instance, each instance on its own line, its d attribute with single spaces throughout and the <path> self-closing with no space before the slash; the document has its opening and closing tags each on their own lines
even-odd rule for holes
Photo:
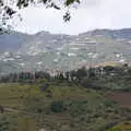
<svg viewBox="0 0 131 131">
<path fill-rule="evenodd" d="M 0 37 L 0 131 L 131 131 L 130 28 Z"/>
</svg>

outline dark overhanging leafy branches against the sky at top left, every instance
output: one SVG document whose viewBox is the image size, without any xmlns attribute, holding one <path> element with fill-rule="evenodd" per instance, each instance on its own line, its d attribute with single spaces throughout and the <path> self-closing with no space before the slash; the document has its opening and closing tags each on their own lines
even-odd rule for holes
<svg viewBox="0 0 131 131">
<path fill-rule="evenodd" d="M 80 3 L 80 0 L 61 0 L 60 4 L 57 3 L 56 0 L 0 0 L 0 31 L 2 31 L 3 25 L 13 17 L 13 15 L 17 12 L 15 9 L 24 9 L 29 7 L 31 4 L 40 4 L 43 3 L 46 8 L 53 8 L 56 10 L 62 10 L 64 8 L 69 8 L 74 3 Z M 63 21 L 70 21 L 71 15 L 70 12 L 67 11 L 63 14 Z"/>
</svg>

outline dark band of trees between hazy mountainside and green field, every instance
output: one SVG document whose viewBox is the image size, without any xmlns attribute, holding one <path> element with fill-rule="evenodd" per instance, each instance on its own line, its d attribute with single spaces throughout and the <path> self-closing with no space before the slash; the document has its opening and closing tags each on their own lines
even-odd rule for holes
<svg viewBox="0 0 131 131">
<path fill-rule="evenodd" d="M 19 83 L 51 83 L 51 82 L 73 82 L 81 84 L 87 88 L 94 90 L 121 90 L 131 91 L 131 67 L 123 64 L 122 67 L 97 67 L 81 68 L 68 72 L 57 72 L 50 75 L 47 72 L 21 72 L 10 73 L 0 78 L 1 83 L 19 82 Z"/>
</svg>

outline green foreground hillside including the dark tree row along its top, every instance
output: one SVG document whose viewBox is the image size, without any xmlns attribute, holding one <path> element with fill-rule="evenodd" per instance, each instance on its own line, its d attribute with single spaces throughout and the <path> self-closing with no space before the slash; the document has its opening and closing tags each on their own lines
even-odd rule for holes
<svg viewBox="0 0 131 131">
<path fill-rule="evenodd" d="M 0 130 L 130 131 L 130 80 L 128 64 L 3 75 Z"/>
</svg>

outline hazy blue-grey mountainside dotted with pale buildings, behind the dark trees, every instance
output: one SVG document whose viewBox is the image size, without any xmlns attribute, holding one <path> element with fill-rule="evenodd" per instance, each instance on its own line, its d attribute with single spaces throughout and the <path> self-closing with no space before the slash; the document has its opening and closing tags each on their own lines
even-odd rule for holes
<svg viewBox="0 0 131 131">
<path fill-rule="evenodd" d="M 0 70 L 72 70 L 100 63 L 131 63 L 131 29 L 95 29 L 75 36 L 39 32 L 0 36 Z"/>
</svg>

